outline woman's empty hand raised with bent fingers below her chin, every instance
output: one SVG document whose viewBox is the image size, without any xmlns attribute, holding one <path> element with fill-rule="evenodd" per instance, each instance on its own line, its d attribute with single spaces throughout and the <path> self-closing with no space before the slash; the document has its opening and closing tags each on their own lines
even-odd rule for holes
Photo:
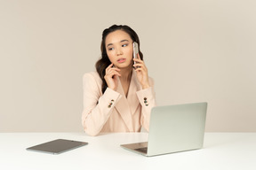
<svg viewBox="0 0 256 170">
<path fill-rule="evenodd" d="M 121 76 L 119 72 L 120 69 L 116 68 L 113 63 L 106 68 L 104 79 L 108 84 L 108 88 L 116 91 L 118 86 L 117 76 Z"/>
</svg>

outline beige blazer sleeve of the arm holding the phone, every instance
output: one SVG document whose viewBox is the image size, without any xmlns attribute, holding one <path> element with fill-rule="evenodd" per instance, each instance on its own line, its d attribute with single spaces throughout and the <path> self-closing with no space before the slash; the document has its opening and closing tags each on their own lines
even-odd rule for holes
<svg viewBox="0 0 256 170">
<path fill-rule="evenodd" d="M 150 88 L 141 89 L 137 91 L 137 97 L 139 98 L 141 108 L 140 123 L 143 128 L 149 131 L 150 112 L 153 107 L 156 106 L 156 93 L 154 90 L 154 80 L 149 78 Z"/>
</svg>

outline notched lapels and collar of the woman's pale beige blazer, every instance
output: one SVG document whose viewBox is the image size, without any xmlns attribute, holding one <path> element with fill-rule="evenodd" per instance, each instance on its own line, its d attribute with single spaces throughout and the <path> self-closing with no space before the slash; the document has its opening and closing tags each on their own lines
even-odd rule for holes
<svg viewBox="0 0 256 170">
<path fill-rule="evenodd" d="M 132 78 L 128 90 L 127 98 L 124 94 L 121 81 L 118 79 L 118 87 L 116 91 L 122 95 L 118 103 L 116 104 L 116 110 L 121 115 L 127 128 L 132 132 L 134 131 L 132 125 L 132 115 L 136 112 L 140 101 L 136 92 L 141 89 L 140 83 L 137 81 L 136 72 L 132 69 Z M 127 108 L 127 109 L 126 109 Z"/>
</svg>

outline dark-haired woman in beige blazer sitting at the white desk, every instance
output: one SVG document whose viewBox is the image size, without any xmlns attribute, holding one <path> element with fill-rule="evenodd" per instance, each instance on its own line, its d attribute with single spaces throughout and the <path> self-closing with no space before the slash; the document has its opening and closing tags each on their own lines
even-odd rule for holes
<svg viewBox="0 0 256 170">
<path fill-rule="evenodd" d="M 138 58 L 132 57 L 138 42 Z M 103 31 L 97 72 L 85 73 L 82 124 L 88 135 L 148 130 L 156 105 L 153 80 L 143 62 L 138 35 L 128 26 Z M 136 69 L 135 69 L 136 68 Z"/>
</svg>

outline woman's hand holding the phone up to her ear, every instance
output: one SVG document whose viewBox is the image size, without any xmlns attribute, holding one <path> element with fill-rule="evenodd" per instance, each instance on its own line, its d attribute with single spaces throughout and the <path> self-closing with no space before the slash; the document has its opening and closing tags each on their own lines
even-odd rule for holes
<svg viewBox="0 0 256 170">
<path fill-rule="evenodd" d="M 140 59 L 140 55 L 138 53 L 138 58 L 133 58 L 135 64 L 133 65 L 136 73 L 137 79 L 140 81 L 142 89 L 150 88 L 149 81 L 148 81 L 148 68 L 145 66 L 145 63 Z"/>
</svg>

